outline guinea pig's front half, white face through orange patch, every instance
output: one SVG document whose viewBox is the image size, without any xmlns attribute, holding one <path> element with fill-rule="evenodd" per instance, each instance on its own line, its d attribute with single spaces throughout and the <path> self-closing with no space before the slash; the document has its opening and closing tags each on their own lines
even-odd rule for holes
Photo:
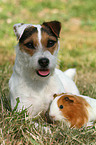
<svg viewBox="0 0 96 145">
<path fill-rule="evenodd" d="M 55 94 L 50 105 L 49 116 L 53 121 L 64 121 L 70 127 L 80 128 L 88 120 L 86 101 L 79 96 Z"/>
</svg>

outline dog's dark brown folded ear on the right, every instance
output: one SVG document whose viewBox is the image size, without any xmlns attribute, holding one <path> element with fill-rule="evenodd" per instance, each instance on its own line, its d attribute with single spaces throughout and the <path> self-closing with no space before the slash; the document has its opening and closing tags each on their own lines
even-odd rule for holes
<svg viewBox="0 0 96 145">
<path fill-rule="evenodd" d="M 49 27 L 51 31 L 58 38 L 61 30 L 61 23 L 59 21 L 44 22 L 42 25 Z"/>
</svg>

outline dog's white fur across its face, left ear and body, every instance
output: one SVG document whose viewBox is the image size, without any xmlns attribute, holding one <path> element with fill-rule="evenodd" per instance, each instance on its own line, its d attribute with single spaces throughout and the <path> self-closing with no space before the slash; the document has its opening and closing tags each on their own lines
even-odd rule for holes
<svg viewBox="0 0 96 145">
<path fill-rule="evenodd" d="M 69 77 L 62 71 L 55 69 L 58 50 L 52 55 L 49 51 L 43 51 L 43 49 L 41 49 L 40 25 L 24 24 L 24 26 L 20 26 L 20 24 L 16 24 L 15 29 L 17 31 L 15 31 L 15 34 L 17 38 L 20 39 L 25 28 L 29 26 L 38 28 L 38 51 L 34 53 L 33 56 L 30 56 L 22 52 L 19 49 L 19 45 L 17 45 L 16 60 L 13 74 L 9 81 L 9 88 L 12 109 L 16 105 L 16 98 L 19 97 L 20 103 L 18 105 L 18 110 L 22 109 L 22 107 L 29 107 L 28 111 L 34 116 L 41 111 L 47 110 L 50 101 L 53 100 L 53 94 L 69 92 L 78 95 L 79 91 L 75 83 Z M 38 60 L 41 57 L 47 57 L 50 60 L 50 75 L 45 78 L 38 76 L 36 73 L 36 70 L 40 69 Z"/>
</svg>

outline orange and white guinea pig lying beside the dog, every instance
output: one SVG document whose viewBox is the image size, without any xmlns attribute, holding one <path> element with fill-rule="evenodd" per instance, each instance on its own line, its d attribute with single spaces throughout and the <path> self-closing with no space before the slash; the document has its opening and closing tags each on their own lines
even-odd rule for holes
<svg viewBox="0 0 96 145">
<path fill-rule="evenodd" d="M 64 121 L 69 127 L 81 128 L 96 120 L 96 99 L 83 95 L 54 95 L 49 109 L 53 121 Z"/>
</svg>

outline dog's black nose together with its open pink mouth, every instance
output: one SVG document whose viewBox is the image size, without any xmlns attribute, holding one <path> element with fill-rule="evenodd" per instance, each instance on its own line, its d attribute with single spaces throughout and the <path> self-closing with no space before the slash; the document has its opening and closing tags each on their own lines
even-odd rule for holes
<svg viewBox="0 0 96 145">
<path fill-rule="evenodd" d="M 37 74 L 41 77 L 47 77 L 50 74 L 50 70 L 48 69 L 49 59 L 46 57 L 40 58 L 38 63 L 41 68 L 37 70 Z"/>
</svg>

